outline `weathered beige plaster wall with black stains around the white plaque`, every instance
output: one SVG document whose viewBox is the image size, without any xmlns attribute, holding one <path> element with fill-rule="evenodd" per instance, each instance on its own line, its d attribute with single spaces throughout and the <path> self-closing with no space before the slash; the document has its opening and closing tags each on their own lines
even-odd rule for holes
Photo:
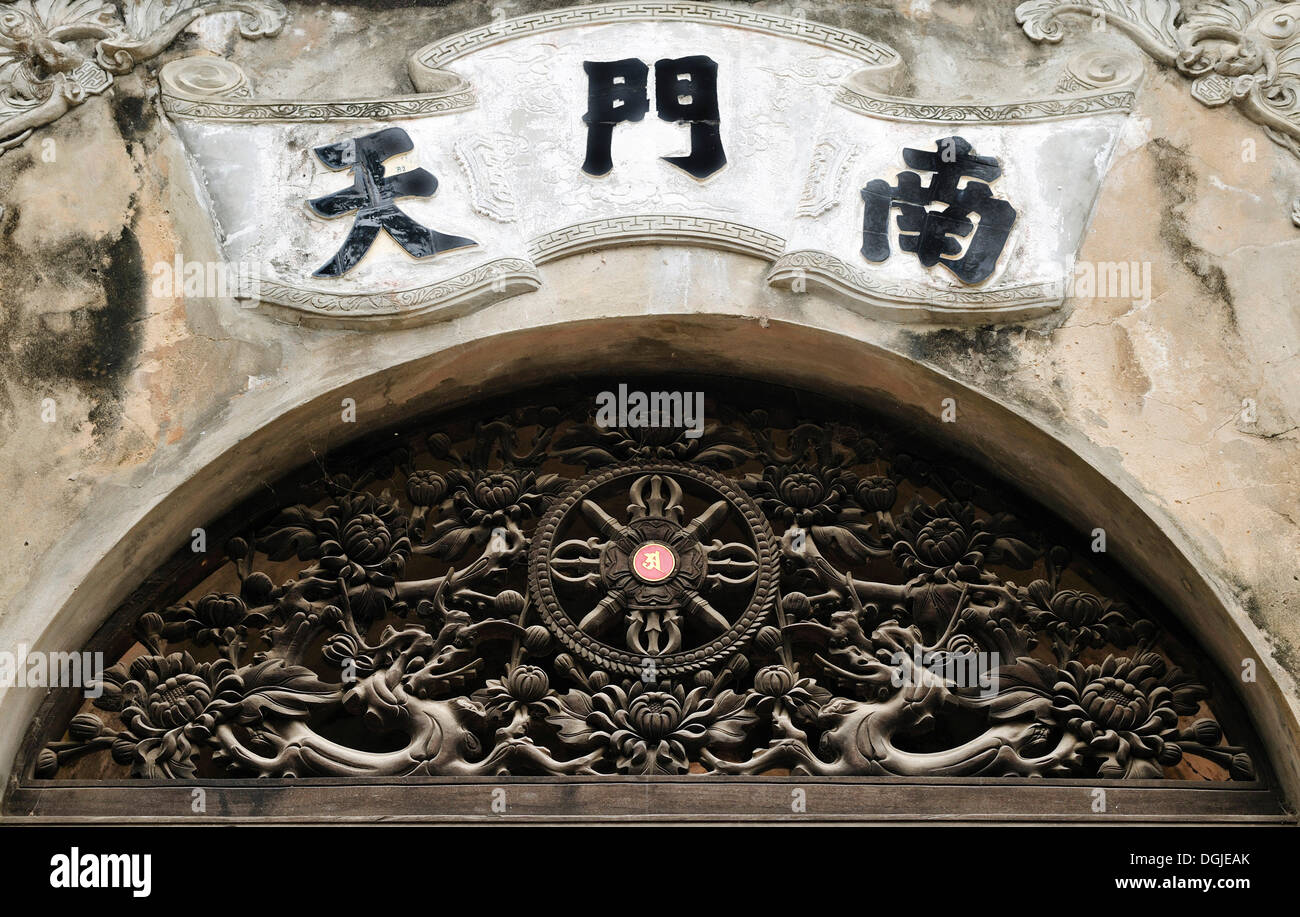
<svg viewBox="0 0 1300 917">
<path fill-rule="evenodd" d="M 516 16 L 552 5 L 562 4 L 502 9 Z M 1014 4 L 994 0 L 800 7 L 810 20 L 892 44 L 909 61 L 902 90 L 919 95 L 1023 95 L 1050 87 L 1065 59 L 1084 47 L 1131 51 L 1121 36 L 1087 27 L 1065 47 L 1035 46 L 1015 26 Z M 254 74 L 259 88 L 282 96 L 391 94 L 410 90 L 411 51 L 491 14 L 478 3 L 415 9 L 294 4 L 291 12 L 277 39 L 238 42 L 229 21 L 214 20 L 169 56 L 203 48 L 224 53 Z M 233 302 L 151 293 L 151 265 L 177 252 L 200 260 L 218 254 L 202 190 L 156 109 L 155 78 L 139 69 L 0 156 L 0 489 L 8 498 L 8 524 L 0 528 L 8 558 L 0 571 L 0 644 L 74 648 L 133 576 L 138 580 L 205 522 L 198 510 L 192 519 L 172 510 L 168 531 L 152 519 L 138 527 L 152 507 L 200 472 L 205 483 L 186 490 L 182 506 L 233 502 L 259 484 L 259 475 L 244 471 L 261 467 L 259 449 L 265 450 L 264 475 L 273 479 L 286 463 L 303 460 L 308 445 L 360 432 L 335 423 L 337 395 L 351 394 L 348 385 L 368 398 L 358 427 L 369 427 L 385 410 L 389 416 L 426 410 L 482 385 L 508 385 L 491 379 L 494 367 L 540 365 L 560 342 L 602 349 L 590 333 L 559 328 L 566 323 L 701 310 L 746 323 L 745 334 L 719 332 L 718 343 L 749 347 L 748 368 L 757 375 L 771 364 L 759 359 L 763 347 L 755 342 L 784 334 L 777 339 L 806 349 L 788 355 L 788 373 L 806 365 L 809 384 L 842 385 L 852 363 L 827 367 L 815 337 L 788 330 L 822 328 L 870 345 L 863 372 L 879 375 L 889 365 L 867 354 L 900 355 L 933 371 L 933 379 L 954 380 L 959 399 L 983 393 L 1084 455 L 1149 509 L 1238 615 L 1242 636 L 1225 641 L 1221 662 L 1231 667 L 1228 650 L 1240 650 L 1260 654 L 1275 670 L 1294 706 L 1288 713 L 1273 696 L 1260 702 L 1278 706 L 1271 735 L 1286 736 L 1300 708 L 1290 680 L 1300 675 L 1300 230 L 1287 216 L 1300 191 L 1300 163 L 1234 111 L 1196 103 L 1178 74 L 1147 69 L 1080 252 L 1089 261 L 1150 261 L 1153 294 L 1145 306 L 1075 299 L 1058 316 L 1023 326 L 900 326 L 812 295 L 771 290 L 760 282 L 758 260 L 638 248 L 550 265 L 540 293 L 455 323 L 381 334 L 303 329 Z M 52 147 L 43 146 L 47 139 Z M 1243 160 L 1245 140 L 1254 142 L 1254 161 Z M 53 161 L 43 156 L 47 150 L 55 151 Z M 550 352 L 503 349 L 498 355 L 471 345 L 540 326 L 556 326 Z M 668 339 L 690 330 L 662 323 L 642 328 Z M 607 326 L 608 354 L 634 350 L 642 333 L 633 324 Z M 458 363 L 458 354 L 471 351 L 477 362 Z M 355 382 L 408 362 L 419 368 L 398 381 L 385 376 L 378 390 Z M 864 380 L 864 386 L 887 389 L 887 382 Z M 900 402 L 922 405 L 940 390 L 902 389 L 894 393 Z M 42 418 L 47 398 L 56 406 L 53 423 Z M 1254 423 L 1243 420 L 1243 399 L 1256 402 Z M 266 425 L 294 408 L 300 408 L 298 425 L 280 433 L 299 431 L 292 451 L 237 449 L 238 462 L 222 459 L 240 470 L 233 480 L 209 468 L 240 440 L 259 431 L 269 438 Z M 967 416 L 998 423 L 983 407 Z M 1001 432 L 1015 434 L 1009 424 Z M 988 431 L 953 434 L 979 440 Z M 1048 467 L 1034 473 L 1048 480 L 1075 472 Z M 101 558 L 127 533 L 130 544 L 105 571 Z M 1121 557 L 1132 553 L 1124 532 L 1110 537 Z M 87 581 L 96 565 L 99 579 Z M 112 584 L 100 587 L 105 574 Z M 1166 597 L 1175 607 L 1204 601 L 1192 592 Z M 51 627 L 60 609 L 66 614 Z M 34 702 L 5 695 L 0 770 Z M 1282 722 L 1287 717 L 1290 727 Z"/>
</svg>

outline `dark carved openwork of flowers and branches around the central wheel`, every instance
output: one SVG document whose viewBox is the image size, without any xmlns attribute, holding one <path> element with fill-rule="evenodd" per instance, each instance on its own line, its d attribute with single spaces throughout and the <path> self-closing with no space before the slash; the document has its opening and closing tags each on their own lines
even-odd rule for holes
<svg viewBox="0 0 1300 917">
<path fill-rule="evenodd" d="M 229 542 L 233 591 L 139 617 L 36 775 L 1253 779 L 1171 637 L 996 496 L 890 433 L 720 410 L 328 459 Z"/>
</svg>

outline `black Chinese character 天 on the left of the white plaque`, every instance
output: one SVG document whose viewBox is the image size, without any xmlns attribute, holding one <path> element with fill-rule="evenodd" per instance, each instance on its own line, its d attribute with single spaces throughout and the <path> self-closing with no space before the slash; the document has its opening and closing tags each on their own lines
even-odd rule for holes
<svg viewBox="0 0 1300 917">
<path fill-rule="evenodd" d="M 308 202 L 320 216 L 337 217 L 356 211 L 343 246 L 315 277 L 338 277 L 355 268 L 382 229 L 413 258 L 429 258 L 478 245 L 460 235 L 443 235 L 408 217 L 393 203 L 398 198 L 432 198 L 438 179 L 425 169 L 384 174 L 385 160 L 415 148 L 400 127 L 387 127 L 354 140 L 316 147 L 316 156 L 329 169 L 350 169 L 352 187 Z"/>
</svg>

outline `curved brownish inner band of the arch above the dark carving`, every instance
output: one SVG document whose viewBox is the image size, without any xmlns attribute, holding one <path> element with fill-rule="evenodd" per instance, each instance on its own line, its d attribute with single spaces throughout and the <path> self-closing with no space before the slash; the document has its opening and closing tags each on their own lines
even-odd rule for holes
<svg viewBox="0 0 1300 917">
<path fill-rule="evenodd" d="M 705 255 L 705 258 L 719 258 Z M 727 256 L 731 259 L 732 256 Z M 734 259 L 733 269 L 745 259 Z M 560 300 L 566 298 L 560 294 Z M 590 343 L 599 342 L 598 350 Z M 566 345 L 572 345 L 567 347 Z M 593 356 L 595 354 L 595 356 Z M 815 354 L 815 360 L 807 355 Z M 519 388 L 555 373 L 592 369 L 599 363 L 620 371 L 647 371 L 666 358 L 675 365 L 706 368 L 711 373 L 780 379 L 871 406 L 889 416 L 932 431 L 939 429 L 933 407 L 957 398 L 972 423 L 958 424 L 949 438 L 972 450 L 994 472 L 1014 476 L 1031 496 L 1058 511 L 1078 528 L 1089 523 L 1123 532 L 1114 553 L 1130 570 L 1164 594 L 1179 594 L 1178 613 L 1205 650 L 1225 670 L 1257 653 L 1248 636 L 1253 628 L 1236 622 L 1216 589 L 1188 559 L 1195 548 L 1164 531 L 1154 514 L 1131 498 L 1108 476 L 1061 438 L 1017 416 L 988 398 L 890 350 L 790 321 L 760 323 L 744 315 L 658 315 L 654 317 L 589 317 L 504 332 L 472 343 L 406 360 L 390 369 L 355 379 L 344 386 L 303 399 L 273 424 L 261 424 L 208 462 L 188 481 L 143 515 L 134 532 L 101 553 L 94 583 L 98 596 L 82 588 L 47 622 L 44 636 L 60 645 L 79 645 L 92 630 L 95 605 L 104 596 L 122 594 L 147 572 L 162 545 L 183 541 L 187 520 L 211 518 L 229 507 L 250 484 L 276 470 L 303 460 L 304 444 L 317 449 L 341 438 L 332 431 L 339 398 L 352 397 L 365 427 L 376 429 L 403 415 L 417 414 L 437 397 L 451 407 L 488 393 Z M 286 428 L 298 436 L 286 440 Z M 351 431 L 348 431 L 351 432 Z M 1096 460 L 1096 459 L 1095 459 Z M 1096 462 L 1102 464 L 1101 462 Z M 242 484 L 240 484 L 242 483 Z M 185 507 L 181 511 L 181 507 Z M 110 538 L 105 538 L 110 541 Z M 96 601 L 99 600 L 99 601 Z M 116 601 L 116 600 L 114 600 Z M 90 620 L 88 620 L 90 619 Z M 1227 624 L 1227 627 L 1225 627 Z M 57 636 L 56 636 L 57 635 Z M 66 643 L 64 643 L 66 641 Z M 35 645 L 35 640 L 32 641 Z M 1261 657 L 1264 658 L 1264 657 Z M 1266 666 L 1265 666 L 1266 669 Z M 1279 783 L 1290 786 L 1294 717 L 1277 685 L 1264 674 L 1277 705 L 1249 702 L 1261 739 L 1271 749 Z M 14 722 L 30 717 L 16 704 L 5 706 Z"/>
</svg>

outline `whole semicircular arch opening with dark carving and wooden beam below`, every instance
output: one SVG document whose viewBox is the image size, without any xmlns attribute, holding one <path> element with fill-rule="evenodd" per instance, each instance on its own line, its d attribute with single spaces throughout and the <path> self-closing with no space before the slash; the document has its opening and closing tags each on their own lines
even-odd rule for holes
<svg viewBox="0 0 1300 917">
<path fill-rule="evenodd" d="M 1104 784 L 1124 817 L 1279 817 L 1176 605 L 996 464 L 736 376 L 426 414 L 151 576 L 92 641 L 121 657 L 104 696 L 52 698 L 6 805 L 129 813 L 200 780 L 234 817 L 472 819 L 500 790 L 543 819 L 770 818 L 797 792 L 824 818 L 1058 819 Z"/>
</svg>

